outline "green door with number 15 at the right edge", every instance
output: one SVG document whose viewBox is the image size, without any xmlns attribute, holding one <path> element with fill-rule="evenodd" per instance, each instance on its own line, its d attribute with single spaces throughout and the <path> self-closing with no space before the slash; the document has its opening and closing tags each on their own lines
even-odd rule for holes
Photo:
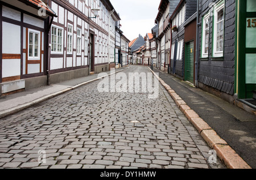
<svg viewBox="0 0 256 180">
<path fill-rule="evenodd" d="M 256 91 L 256 1 L 237 0 L 236 93 L 253 98 Z"/>
</svg>

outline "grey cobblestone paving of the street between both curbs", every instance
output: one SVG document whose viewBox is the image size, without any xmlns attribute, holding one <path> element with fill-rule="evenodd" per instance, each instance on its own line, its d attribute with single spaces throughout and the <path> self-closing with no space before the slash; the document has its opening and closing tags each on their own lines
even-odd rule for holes
<svg viewBox="0 0 256 180">
<path fill-rule="evenodd" d="M 209 147 L 162 87 L 148 99 L 147 93 L 100 93 L 97 85 L 1 119 L 0 167 L 224 168 L 208 162 Z M 39 163 L 39 150 L 45 162 Z"/>
</svg>

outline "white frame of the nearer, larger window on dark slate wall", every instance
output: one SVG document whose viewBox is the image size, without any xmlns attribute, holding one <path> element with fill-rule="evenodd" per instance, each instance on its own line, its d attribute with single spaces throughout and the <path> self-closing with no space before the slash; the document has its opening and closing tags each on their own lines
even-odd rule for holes
<svg viewBox="0 0 256 180">
<path fill-rule="evenodd" d="M 218 18 L 218 12 L 223 8 L 224 11 L 224 18 L 221 20 L 222 23 L 225 21 L 225 3 L 222 1 L 221 3 L 218 3 L 213 10 L 213 19 L 214 19 L 214 29 L 213 29 L 213 57 L 223 57 L 224 53 L 224 29 L 223 29 L 223 50 L 217 52 L 216 46 L 217 46 L 217 18 Z M 225 23 L 223 24 L 225 25 Z"/>
</svg>

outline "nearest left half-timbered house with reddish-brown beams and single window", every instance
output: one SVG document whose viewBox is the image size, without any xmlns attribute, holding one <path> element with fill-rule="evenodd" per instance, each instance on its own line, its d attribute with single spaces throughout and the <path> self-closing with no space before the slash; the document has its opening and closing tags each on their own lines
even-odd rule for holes
<svg viewBox="0 0 256 180">
<path fill-rule="evenodd" d="M 0 1 L 0 93 L 46 85 L 49 17 L 56 16 L 40 0 Z"/>
</svg>

